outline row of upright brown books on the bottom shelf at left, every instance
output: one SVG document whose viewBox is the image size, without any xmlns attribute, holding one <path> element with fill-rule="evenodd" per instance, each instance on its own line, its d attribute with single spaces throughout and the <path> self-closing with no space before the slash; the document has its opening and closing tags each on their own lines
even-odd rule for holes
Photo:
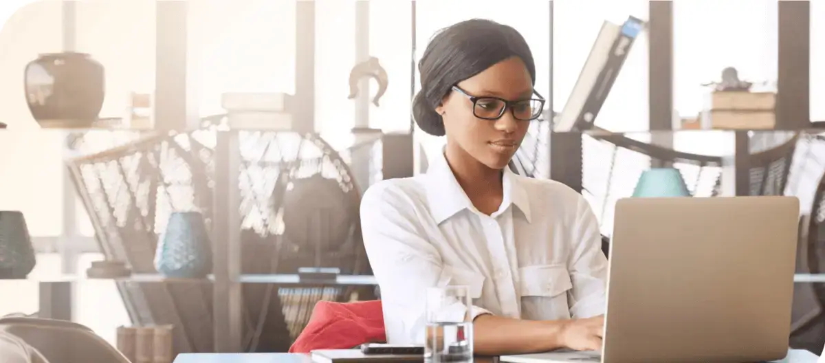
<svg viewBox="0 0 825 363">
<path fill-rule="evenodd" d="M 133 363 L 172 363 L 172 325 L 118 327 L 117 350 Z"/>
</svg>

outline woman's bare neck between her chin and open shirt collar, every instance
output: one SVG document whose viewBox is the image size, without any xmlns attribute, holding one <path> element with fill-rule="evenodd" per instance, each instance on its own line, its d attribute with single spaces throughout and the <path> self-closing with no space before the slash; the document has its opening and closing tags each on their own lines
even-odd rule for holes
<svg viewBox="0 0 825 363">
<path fill-rule="evenodd" d="M 462 148 L 450 148 L 449 144 L 445 157 L 455 180 L 475 208 L 483 214 L 493 214 L 498 210 L 504 198 L 502 171 L 480 163 Z"/>
</svg>

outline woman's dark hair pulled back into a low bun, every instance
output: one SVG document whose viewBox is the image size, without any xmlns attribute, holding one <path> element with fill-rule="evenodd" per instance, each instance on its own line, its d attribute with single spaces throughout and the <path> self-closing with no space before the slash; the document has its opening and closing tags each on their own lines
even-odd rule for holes
<svg viewBox="0 0 825 363">
<path fill-rule="evenodd" d="M 452 87 L 504 59 L 518 57 L 535 85 L 535 64 L 524 37 L 495 21 L 461 21 L 439 31 L 418 62 L 421 91 L 413 98 L 413 119 L 427 134 L 443 136 L 444 120 L 436 112 Z"/>
</svg>

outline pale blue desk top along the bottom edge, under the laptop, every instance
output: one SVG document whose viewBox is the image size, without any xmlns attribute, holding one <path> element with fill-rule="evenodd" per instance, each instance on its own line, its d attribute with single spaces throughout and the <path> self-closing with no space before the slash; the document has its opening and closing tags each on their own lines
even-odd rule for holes
<svg viewBox="0 0 825 363">
<path fill-rule="evenodd" d="M 771 363 L 817 363 L 810 351 L 789 351 L 782 361 Z M 308 354 L 290 353 L 190 353 L 181 354 L 173 363 L 312 363 Z M 474 363 L 498 363 L 496 357 L 477 357 Z"/>
</svg>

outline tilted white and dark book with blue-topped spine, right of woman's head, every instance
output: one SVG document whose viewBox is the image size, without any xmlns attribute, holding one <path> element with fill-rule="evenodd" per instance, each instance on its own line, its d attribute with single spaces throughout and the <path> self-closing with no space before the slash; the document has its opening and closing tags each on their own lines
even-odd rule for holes
<svg viewBox="0 0 825 363">
<path fill-rule="evenodd" d="M 643 21 L 629 16 L 623 25 L 605 21 L 561 115 L 554 120 L 555 132 L 587 129 L 596 120 L 613 87 Z"/>
</svg>

